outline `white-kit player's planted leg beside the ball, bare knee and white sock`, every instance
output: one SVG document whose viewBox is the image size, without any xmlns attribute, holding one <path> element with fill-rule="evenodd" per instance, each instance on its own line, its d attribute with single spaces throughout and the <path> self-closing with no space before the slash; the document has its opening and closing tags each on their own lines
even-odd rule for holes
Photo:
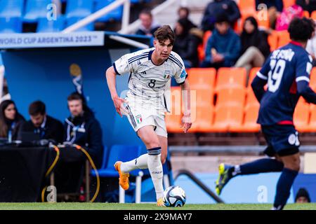
<svg viewBox="0 0 316 224">
<path fill-rule="evenodd" d="M 156 191 L 157 205 L 162 206 L 162 197 L 164 196 L 164 187 L 162 184 L 163 171 L 162 171 L 162 147 L 159 143 L 159 138 L 154 132 L 152 126 L 141 127 L 138 130 L 138 136 L 142 139 L 147 148 L 147 165 L 154 183 L 154 190 Z"/>
</svg>

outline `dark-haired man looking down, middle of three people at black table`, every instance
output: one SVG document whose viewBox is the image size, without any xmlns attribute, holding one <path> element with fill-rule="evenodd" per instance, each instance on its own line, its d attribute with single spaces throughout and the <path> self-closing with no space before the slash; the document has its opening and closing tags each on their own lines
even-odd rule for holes
<svg viewBox="0 0 316 224">
<path fill-rule="evenodd" d="M 20 132 L 34 132 L 39 135 L 39 139 L 50 139 L 55 144 L 63 142 L 64 126 L 59 120 L 47 115 L 43 102 L 32 102 L 29 105 L 29 116 L 31 120 L 22 125 Z"/>
</svg>

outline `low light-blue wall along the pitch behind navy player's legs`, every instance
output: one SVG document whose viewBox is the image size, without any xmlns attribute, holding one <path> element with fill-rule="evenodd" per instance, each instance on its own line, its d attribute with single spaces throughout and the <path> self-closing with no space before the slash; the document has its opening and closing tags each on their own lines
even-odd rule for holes
<svg viewBox="0 0 316 224">
<path fill-rule="evenodd" d="M 215 193 L 215 181 L 218 174 L 195 174 L 197 178 Z M 280 173 L 237 176 L 225 186 L 220 198 L 228 204 L 272 204 Z M 175 181 L 187 195 L 187 204 L 215 204 L 199 186 L 187 176 L 179 176 Z M 298 174 L 291 189 L 288 203 L 294 203 L 299 188 L 305 188 L 310 194 L 310 200 L 316 202 L 316 174 Z"/>
</svg>

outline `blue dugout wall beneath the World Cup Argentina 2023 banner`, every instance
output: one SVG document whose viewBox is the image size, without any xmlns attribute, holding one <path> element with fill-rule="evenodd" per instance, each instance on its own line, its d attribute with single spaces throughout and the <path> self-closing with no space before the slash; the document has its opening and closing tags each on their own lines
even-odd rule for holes
<svg viewBox="0 0 316 224">
<path fill-rule="evenodd" d="M 2 51 L 2 57 L 12 99 L 27 119 L 28 106 L 37 99 L 46 103 L 49 115 L 62 122 L 70 115 L 67 96 L 75 90 L 70 65 L 78 64 L 88 106 L 96 112 L 104 144 L 110 147 L 113 144 L 142 144 L 126 116 L 120 118 L 116 113 L 105 79 L 105 71 L 113 60 L 132 50 L 119 45 L 111 50 L 105 47 L 8 50 Z M 117 78 L 119 94 L 127 89 L 128 79 L 128 75 Z"/>
</svg>

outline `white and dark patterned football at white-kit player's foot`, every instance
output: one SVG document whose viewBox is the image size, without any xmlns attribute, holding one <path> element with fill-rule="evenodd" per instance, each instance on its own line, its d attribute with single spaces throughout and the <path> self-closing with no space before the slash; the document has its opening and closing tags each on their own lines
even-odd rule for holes
<svg viewBox="0 0 316 224">
<path fill-rule="evenodd" d="M 183 207 L 185 201 L 185 191 L 179 186 L 170 186 L 164 190 L 164 205 L 166 207 Z"/>
</svg>

